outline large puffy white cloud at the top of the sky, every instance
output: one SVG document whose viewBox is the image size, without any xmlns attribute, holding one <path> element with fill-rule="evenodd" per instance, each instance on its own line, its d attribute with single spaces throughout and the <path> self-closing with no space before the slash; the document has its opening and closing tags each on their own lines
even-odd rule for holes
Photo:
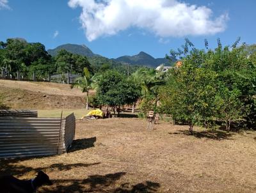
<svg viewBox="0 0 256 193">
<path fill-rule="evenodd" d="M 83 8 L 80 21 L 89 41 L 129 27 L 161 38 L 214 35 L 225 30 L 228 20 L 227 13 L 212 18 L 210 8 L 178 0 L 69 0 L 68 5 Z"/>
</svg>

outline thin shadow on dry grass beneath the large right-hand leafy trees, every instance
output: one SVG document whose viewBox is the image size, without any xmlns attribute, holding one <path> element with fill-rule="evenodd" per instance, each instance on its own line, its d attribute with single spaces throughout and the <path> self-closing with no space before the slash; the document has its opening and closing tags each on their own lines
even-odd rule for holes
<svg viewBox="0 0 256 193">
<path fill-rule="evenodd" d="M 223 140 L 223 139 L 232 139 L 232 134 L 228 134 L 222 130 L 207 130 L 207 131 L 193 131 L 193 134 L 189 132 L 189 130 L 179 130 L 178 132 L 168 133 L 171 135 L 175 134 L 183 134 L 183 135 L 193 135 L 196 138 L 206 138 L 206 139 L 214 139 L 214 140 Z"/>
</svg>

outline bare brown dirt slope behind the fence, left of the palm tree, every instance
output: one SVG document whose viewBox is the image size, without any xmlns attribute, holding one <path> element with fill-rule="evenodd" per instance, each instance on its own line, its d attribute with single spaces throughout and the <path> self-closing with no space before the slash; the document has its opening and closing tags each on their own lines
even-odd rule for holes
<svg viewBox="0 0 256 193">
<path fill-rule="evenodd" d="M 0 105 L 9 109 L 77 109 L 84 96 L 68 84 L 0 80 Z"/>
</svg>

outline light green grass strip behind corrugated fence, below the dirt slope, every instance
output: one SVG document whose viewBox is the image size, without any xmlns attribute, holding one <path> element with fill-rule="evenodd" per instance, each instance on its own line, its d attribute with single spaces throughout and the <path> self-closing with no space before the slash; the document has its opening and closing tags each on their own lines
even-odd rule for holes
<svg viewBox="0 0 256 193">
<path fill-rule="evenodd" d="M 74 112 L 76 119 L 85 116 L 90 110 L 86 109 L 52 109 L 52 110 L 38 110 L 38 117 L 40 118 L 60 118 L 61 111 L 63 111 L 62 116 L 68 116 Z"/>
</svg>

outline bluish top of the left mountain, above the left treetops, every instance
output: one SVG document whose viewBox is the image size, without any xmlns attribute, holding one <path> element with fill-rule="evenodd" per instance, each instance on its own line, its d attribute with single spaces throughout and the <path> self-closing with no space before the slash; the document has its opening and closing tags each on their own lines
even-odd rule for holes
<svg viewBox="0 0 256 193">
<path fill-rule="evenodd" d="M 49 52 L 49 54 L 51 54 L 52 56 L 56 56 L 58 51 L 60 51 L 61 49 L 67 50 L 72 54 L 79 54 L 86 57 L 99 56 L 97 54 L 94 54 L 92 50 L 86 47 L 86 45 L 77 45 L 77 44 L 70 44 L 70 43 L 60 45 L 56 47 L 56 49 L 47 50 L 47 52 Z"/>
</svg>

